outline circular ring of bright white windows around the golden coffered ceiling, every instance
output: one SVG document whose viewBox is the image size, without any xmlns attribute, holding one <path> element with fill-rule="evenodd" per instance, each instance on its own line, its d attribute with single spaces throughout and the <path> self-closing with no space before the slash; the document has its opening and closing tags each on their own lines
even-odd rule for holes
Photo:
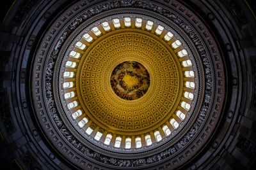
<svg viewBox="0 0 256 170">
<path fill-rule="evenodd" d="M 161 122 L 161 124 L 158 124 L 159 126 L 155 126 L 154 129 L 148 132 L 143 132 L 143 134 L 136 135 L 124 135 L 122 133 L 118 134 L 116 133 L 115 128 L 113 128 L 114 130 L 111 131 L 111 127 L 106 128 L 104 127 L 104 125 L 100 125 L 99 122 L 95 121 L 95 118 L 93 119 L 92 113 L 88 113 L 88 110 L 86 111 L 86 109 L 84 109 L 84 107 L 81 106 L 82 101 L 79 101 L 79 98 L 77 97 L 79 96 L 79 94 L 77 94 L 77 83 L 79 83 L 79 81 L 77 81 L 77 77 L 81 76 L 77 74 L 77 67 L 79 66 L 79 64 L 81 64 L 81 59 L 88 59 L 88 56 L 86 55 L 88 54 L 88 52 L 86 52 L 86 50 L 92 48 L 91 45 L 93 44 L 93 42 L 97 41 L 97 39 L 99 39 L 100 37 L 106 34 L 110 34 L 111 32 L 125 29 L 132 29 L 134 31 L 138 30 L 141 32 L 144 31 L 148 34 L 152 34 L 152 36 L 157 36 L 159 39 L 162 39 L 165 45 L 168 46 L 174 53 L 169 57 L 177 57 L 177 61 L 179 61 L 178 65 L 180 66 L 181 69 L 180 72 L 182 73 L 182 75 L 180 75 L 180 77 L 182 78 L 182 89 L 180 89 L 181 96 L 179 103 L 177 104 L 177 107 L 174 108 L 174 111 L 172 111 L 172 113 L 166 113 L 166 117 L 168 117 L 167 120 Z M 105 51 L 102 51 L 102 53 L 104 52 Z M 102 60 L 104 60 L 104 55 L 102 56 Z M 143 59 L 141 60 L 143 61 Z M 93 62 L 93 64 L 96 64 L 95 62 L 97 62 L 97 60 Z M 123 17 L 113 16 L 108 19 L 105 18 L 100 20 L 100 22 L 97 22 L 97 24 L 88 27 L 86 31 L 83 31 L 79 36 L 77 36 L 76 40 L 73 41 L 72 45 L 70 46 L 67 52 L 67 57 L 63 61 L 63 66 L 65 67 L 65 69 L 63 70 L 60 76 L 61 81 L 63 82 L 61 84 L 61 91 L 63 91 L 63 106 L 67 110 L 67 116 L 70 122 L 73 122 L 72 124 L 76 125 L 76 129 L 80 130 L 82 136 L 85 136 L 87 138 L 88 136 L 90 136 L 90 139 L 92 139 L 93 141 L 100 141 L 101 143 L 104 144 L 104 146 L 114 146 L 114 148 L 125 148 L 126 150 L 129 150 L 131 148 L 141 148 L 143 146 L 150 147 L 154 143 L 159 143 L 164 138 L 171 138 L 171 136 L 175 134 L 175 132 L 177 133 L 177 131 L 179 131 L 179 129 L 182 128 L 182 122 L 184 122 L 184 120 L 186 120 L 186 118 L 189 117 L 189 113 L 191 113 L 191 110 L 193 110 L 193 106 L 191 106 L 191 104 L 196 99 L 197 80 L 197 71 L 196 67 L 193 66 L 193 63 L 195 63 L 195 61 L 193 61 L 193 55 L 191 52 L 189 52 L 189 48 L 186 45 L 186 43 L 184 43 L 184 40 L 180 38 L 180 36 L 175 31 L 170 29 L 170 27 L 168 27 L 167 25 L 159 21 L 156 22 L 156 19 L 142 15 L 138 15 L 138 17 L 130 17 L 130 15 L 123 15 Z M 90 69 L 95 68 L 93 67 L 93 64 L 91 64 L 92 67 Z M 99 65 L 100 62 L 98 63 L 98 66 Z M 90 67 L 90 64 L 87 65 L 87 68 L 88 67 Z M 159 67 L 161 67 L 161 65 Z M 115 68 L 115 65 L 113 66 L 113 68 Z M 154 68 L 150 68 L 150 64 L 148 64 L 149 73 L 150 70 L 152 70 L 152 75 L 150 75 L 150 78 L 151 76 L 152 78 L 154 78 L 154 76 L 156 76 L 156 74 L 153 71 Z M 110 69 L 109 71 L 113 71 L 113 69 Z M 97 73 L 97 70 L 95 70 L 95 73 Z M 167 74 L 170 73 L 167 72 Z M 108 81 L 108 79 L 100 79 L 100 76 L 104 75 L 106 75 L 106 73 L 94 75 L 95 77 L 99 76 L 99 85 L 106 85 L 105 81 Z M 97 78 L 93 79 L 95 81 L 98 81 Z M 155 77 L 155 80 L 156 79 L 157 78 Z M 92 82 L 92 78 L 88 78 L 88 80 Z M 100 84 L 101 80 L 102 84 Z M 167 82 L 167 84 L 171 83 L 170 79 L 169 81 L 165 81 L 164 78 L 159 78 L 158 84 L 155 83 L 155 86 L 161 86 L 163 82 Z M 111 87 L 110 83 L 109 87 Z M 173 87 L 175 87 L 175 85 Z M 97 91 L 96 84 L 95 91 Z M 86 91 L 86 94 L 88 94 L 88 91 Z M 141 97 L 141 99 L 143 99 L 143 97 Z M 147 96 L 145 95 L 145 97 Z M 100 100 L 101 99 L 99 98 L 99 103 Z M 105 99 L 105 101 L 107 100 Z M 97 103 L 97 101 L 95 102 Z M 86 103 L 88 104 L 88 101 L 86 101 Z M 129 105 L 129 103 L 127 104 Z M 150 103 L 147 104 L 149 105 Z M 106 108 L 106 106 L 103 104 L 102 108 Z M 129 110 L 127 109 L 127 111 Z M 120 117 L 120 119 L 122 119 L 122 117 Z M 105 122 L 105 124 L 108 123 L 109 122 Z M 129 125 L 127 125 L 127 127 L 129 127 Z M 135 125 L 131 126 L 131 129 L 133 129 L 134 127 Z M 120 127 L 120 129 L 122 129 L 122 127 Z"/>
</svg>

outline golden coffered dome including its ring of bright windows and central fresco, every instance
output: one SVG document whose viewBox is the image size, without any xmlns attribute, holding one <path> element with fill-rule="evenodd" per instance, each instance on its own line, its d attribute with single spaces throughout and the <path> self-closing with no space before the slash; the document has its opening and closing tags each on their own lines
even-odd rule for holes
<svg viewBox="0 0 256 170">
<path fill-rule="evenodd" d="M 64 112 L 82 136 L 141 148 L 172 138 L 190 117 L 199 84 L 195 57 L 177 32 L 156 23 L 114 15 L 72 41 L 58 84 Z M 122 138 L 120 146 L 113 136 Z"/>
</svg>

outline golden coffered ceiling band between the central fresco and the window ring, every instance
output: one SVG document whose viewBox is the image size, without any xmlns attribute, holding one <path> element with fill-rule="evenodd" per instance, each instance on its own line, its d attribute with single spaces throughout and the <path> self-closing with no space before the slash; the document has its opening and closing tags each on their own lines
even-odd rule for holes
<svg viewBox="0 0 256 170">
<path fill-rule="evenodd" d="M 129 60 L 140 62 L 150 76 L 148 92 L 137 100 L 116 96 L 111 86 L 115 67 Z M 84 113 L 102 129 L 119 134 L 152 131 L 172 117 L 182 95 L 177 56 L 163 39 L 147 31 L 117 30 L 95 39 L 79 61 L 77 78 Z"/>
</svg>

